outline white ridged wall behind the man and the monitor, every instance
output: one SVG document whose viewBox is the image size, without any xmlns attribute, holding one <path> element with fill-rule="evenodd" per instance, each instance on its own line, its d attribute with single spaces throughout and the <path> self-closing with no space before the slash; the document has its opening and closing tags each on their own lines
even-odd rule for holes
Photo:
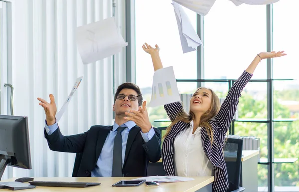
<svg viewBox="0 0 299 192">
<path fill-rule="evenodd" d="M 75 154 L 53 152 L 44 138 L 45 114 L 37 97 L 54 94 L 58 110 L 83 75 L 59 126 L 64 135 L 112 123 L 112 57 L 83 65 L 75 29 L 112 16 L 112 0 L 13 0 L 14 115 L 28 116 L 32 167 L 9 168 L 6 177 L 69 177 Z M 125 37 L 125 1 L 116 0 L 116 23 Z M 115 85 L 125 81 L 125 49 L 115 56 Z M 12 174 L 13 172 L 13 174 Z M 4 176 L 5 177 L 5 176 Z"/>
</svg>

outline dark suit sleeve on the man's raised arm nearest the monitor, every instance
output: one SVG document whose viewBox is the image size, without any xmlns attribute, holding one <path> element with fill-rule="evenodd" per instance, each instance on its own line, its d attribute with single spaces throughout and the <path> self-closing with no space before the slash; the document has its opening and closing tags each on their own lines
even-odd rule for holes
<svg viewBox="0 0 299 192">
<path fill-rule="evenodd" d="M 82 134 L 64 136 L 58 127 L 51 135 L 48 135 L 46 130 L 44 130 L 44 134 L 51 150 L 69 153 L 81 153 L 84 149 L 88 131 Z"/>
</svg>

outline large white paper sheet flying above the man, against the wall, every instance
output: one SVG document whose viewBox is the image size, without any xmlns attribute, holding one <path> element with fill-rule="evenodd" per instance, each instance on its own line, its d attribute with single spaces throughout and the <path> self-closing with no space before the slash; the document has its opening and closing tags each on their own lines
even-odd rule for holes
<svg viewBox="0 0 299 192">
<path fill-rule="evenodd" d="M 127 46 L 114 18 L 77 27 L 77 45 L 83 64 L 114 55 Z"/>
</svg>

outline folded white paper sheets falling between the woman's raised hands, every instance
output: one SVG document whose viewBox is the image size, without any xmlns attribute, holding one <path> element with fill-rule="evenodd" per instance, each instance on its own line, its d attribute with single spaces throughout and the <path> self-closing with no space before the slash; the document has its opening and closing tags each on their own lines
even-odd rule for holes
<svg viewBox="0 0 299 192">
<path fill-rule="evenodd" d="M 183 53 L 197 50 L 196 47 L 202 45 L 202 42 L 193 28 L 190 19 L 179 4 L 173 2 L 172 5 L 174 7 Z"/>
</svg>

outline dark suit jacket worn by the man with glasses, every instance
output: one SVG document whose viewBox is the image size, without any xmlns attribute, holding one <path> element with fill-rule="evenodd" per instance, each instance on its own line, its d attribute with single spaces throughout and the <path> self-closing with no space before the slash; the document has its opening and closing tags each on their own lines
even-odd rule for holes
<svg viewBox="0 0 299 192">
<path fill-rule="evenodd" d="M 73 177 L 90 177 L 110 130 L 112 126 L 95 125 L 85 133 L 63 136 L 58 127 L 51 135 L 45 131 L 45 138 L 53 151 L 77 153 Z M 125 177 L 147 176 L 149 161 L 157 162 L 161 158 L 160 131 L 154 128 L 155 135 L 147 143 L 140 131 L 141 128 L 135 126 L 128 135 L 123 165 Z"/>
</svg>

